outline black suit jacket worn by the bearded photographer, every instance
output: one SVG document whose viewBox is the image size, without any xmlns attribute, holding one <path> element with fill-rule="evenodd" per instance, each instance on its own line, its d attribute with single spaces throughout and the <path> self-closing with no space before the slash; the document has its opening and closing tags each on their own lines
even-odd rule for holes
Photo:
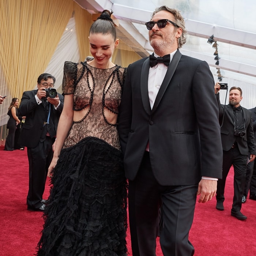
<svg viewBox="0 0 256 256">
<path fill-rule="evenodd" d="M 255 137 L 252 124 L 252 112 L 249 109 L 242 108 L 244 116 L 244 125 L 246 135 L 244 138 L 234 135 L 234 111 L 230 104 L 223 105 L 219 101 L 219 93 L 217 94 L 217 101 L 219 106 L 219 120 L 222 122 L 224 114 L 223 125 L 221 127 L 221 141 L 222 148 L 225 151 L 230 150 L 235 141 L 237 141 L 238 149 L 242 155 L 255 155 Z M 225 110 L 224 110 L 225 106 Z M 225 112 L 224 112 L 225 111 Z"/>
</svg>

